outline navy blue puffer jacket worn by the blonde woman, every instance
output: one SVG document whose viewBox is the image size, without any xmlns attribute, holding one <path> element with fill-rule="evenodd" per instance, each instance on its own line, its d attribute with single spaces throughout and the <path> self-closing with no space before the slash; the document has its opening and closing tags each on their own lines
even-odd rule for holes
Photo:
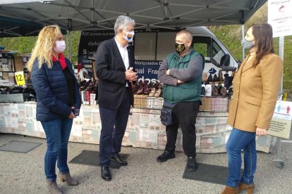
<svg viewBox="0 0 292 194">
<path fill-rule="evenodd" d="M 72 64 L 67 58 L 66 64 L 71 74 L 74 76 Z M 69 105 L 68 86 L 63 75 L 63 70 L 59 60 L 53 62 L 51 69 L 44 63 L 39 68 L 37 59 L 33 63 L 32 85 L 37 93 L 37 120 L 50 121 L 60 118 L 68 118 L 71 114 Z M 74 105 L 80 108 L 81 97 L 77 79 L 74 79 Z"/>
</svg>

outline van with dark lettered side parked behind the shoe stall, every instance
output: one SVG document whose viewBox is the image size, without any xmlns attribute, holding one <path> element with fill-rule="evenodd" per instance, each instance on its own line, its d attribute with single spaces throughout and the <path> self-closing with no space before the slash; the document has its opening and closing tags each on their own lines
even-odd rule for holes
<svg viewBox="0 0 292 194">
<path fill-rule="evenodd" d="M 227 70 L 235 70 L 238 67 L 238 62 L 229 50 L 206 27 L 187 27 L 186 30 L 193 34 L 195 51 L 205 57 L 204 72 L 215 74 L 222 67 Z M 133 46 L 135 69 L 139 79 L 156 81 L 157 71 L 162 60 L 168 53 L 175 51 L 174 43 L 177 32 L 164 29 L 135 30 Z M 99 44 L 112 37 L 114 37 L 114 31 L 111 30 L 81 32 L 78 63 L 91 67 L 90 59 L 92 59 L 92 55 L 95 55 Z"/>
</svg>

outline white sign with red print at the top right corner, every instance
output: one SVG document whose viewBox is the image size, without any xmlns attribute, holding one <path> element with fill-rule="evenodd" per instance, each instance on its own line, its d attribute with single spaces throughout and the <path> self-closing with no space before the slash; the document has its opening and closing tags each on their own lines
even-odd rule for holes
<svg viewBox="0 0 292 194">
<path fill-rule="evenodd" d="M 273 27 L 273 37 L 292 35 L 292 0 L 269 0 L 268 22 Z"/>
</svg>

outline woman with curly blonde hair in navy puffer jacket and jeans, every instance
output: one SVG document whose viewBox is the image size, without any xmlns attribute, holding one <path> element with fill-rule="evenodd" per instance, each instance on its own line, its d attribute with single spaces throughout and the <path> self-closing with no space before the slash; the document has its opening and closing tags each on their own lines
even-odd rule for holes
<svg viewBox="0 0 292 194">
<path fill-rule="evenodd" d="M 44 27 L 28 61 L 32 85 L 37 93 L 36 118 L 42 123 L 47 137 L 44 172 L 49 193 L 62 193 L 56 184 L 56 163 L 59 179 L 70 186 L 78 181 L 71 177 L 67 164 L 68 139 L 74 115 L 81 98 L 73 67 L 63 56 L 66 43 L 57 25 Z"/>
</svg>

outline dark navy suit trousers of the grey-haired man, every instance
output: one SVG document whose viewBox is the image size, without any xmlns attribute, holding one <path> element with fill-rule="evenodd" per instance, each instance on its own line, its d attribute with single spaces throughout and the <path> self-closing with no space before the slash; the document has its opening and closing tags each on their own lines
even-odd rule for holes
<svg viewBox="0 0 292 194">
<path fill-rule="evenodd" d="M 117 110 L 99 105 L 99 114 L 102 120 L 102 131 L 99 138 L 99 165 L 101 167 L 109 167 L 111 164 L 109 157 L 121 152 L 121 143 L 130 113 L 131 101 L 128 88 L 125 88 L 121 98 L 123 101 Z"/>
</svg>

